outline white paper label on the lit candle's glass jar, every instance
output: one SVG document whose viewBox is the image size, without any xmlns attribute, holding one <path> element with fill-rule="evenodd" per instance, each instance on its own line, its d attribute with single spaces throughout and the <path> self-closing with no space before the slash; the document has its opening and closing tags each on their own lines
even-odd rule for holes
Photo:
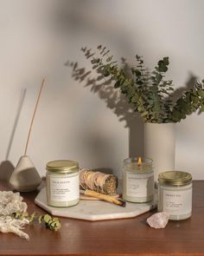
<svg viewBox="0 0 204 256">
<path fill-rule="evenodd" d="M 146 197 L 154 194 L 154 174 L 126 172 L 127 196 Z"/>
</svg>

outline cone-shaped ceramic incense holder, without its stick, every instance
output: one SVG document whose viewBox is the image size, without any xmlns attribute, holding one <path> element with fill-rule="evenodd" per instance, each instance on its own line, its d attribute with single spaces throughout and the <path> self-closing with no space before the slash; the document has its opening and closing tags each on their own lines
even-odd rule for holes
<svg viewBox="0 0 204 256">
<path fill-rule="evenodd" d="M 12 189 L 20 192 L 33 191 L 41 185 L 41 176 L 28 155 L 22 155 L 18 161 L 9 184 Z"/>
</svg>

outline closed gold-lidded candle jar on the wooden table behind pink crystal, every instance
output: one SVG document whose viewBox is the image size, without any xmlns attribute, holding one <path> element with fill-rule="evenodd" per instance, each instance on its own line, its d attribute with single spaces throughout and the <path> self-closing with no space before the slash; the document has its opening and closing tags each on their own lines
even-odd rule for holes
<svg viewBox="0 0 204 256">
<path fill-rule="evenodd" d="M 191 174 L 178 171 L 159 174 L 158 211 L 169 213 L 169 220 L 185 220 L 191 216 Z"/>
</svg>

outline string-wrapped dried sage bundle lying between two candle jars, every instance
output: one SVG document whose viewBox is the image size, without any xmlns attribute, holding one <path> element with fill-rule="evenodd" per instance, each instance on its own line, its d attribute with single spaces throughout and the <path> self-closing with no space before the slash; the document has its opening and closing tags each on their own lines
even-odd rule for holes
<svg viewBox="0 0 204 256">
<path fill-rule="evenodd" d="M 102 194 L 116 194 L 118 178 L 113 174 L 104 174 L 94 170 L 80 170 L 80 188 L 90 189 Z"/>
</svg>

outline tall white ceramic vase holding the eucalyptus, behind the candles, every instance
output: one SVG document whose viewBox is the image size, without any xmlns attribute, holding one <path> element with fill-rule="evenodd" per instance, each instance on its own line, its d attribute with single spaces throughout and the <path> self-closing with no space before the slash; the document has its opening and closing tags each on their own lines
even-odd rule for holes
<svg viewBox="0 0 204 256">
<path fill-rule="evenodd" d="M 175 170 L 175 123 L 144 124 L 144 155 L 153 160 L 156 183 L 158 174 Z"/>
</svg>

